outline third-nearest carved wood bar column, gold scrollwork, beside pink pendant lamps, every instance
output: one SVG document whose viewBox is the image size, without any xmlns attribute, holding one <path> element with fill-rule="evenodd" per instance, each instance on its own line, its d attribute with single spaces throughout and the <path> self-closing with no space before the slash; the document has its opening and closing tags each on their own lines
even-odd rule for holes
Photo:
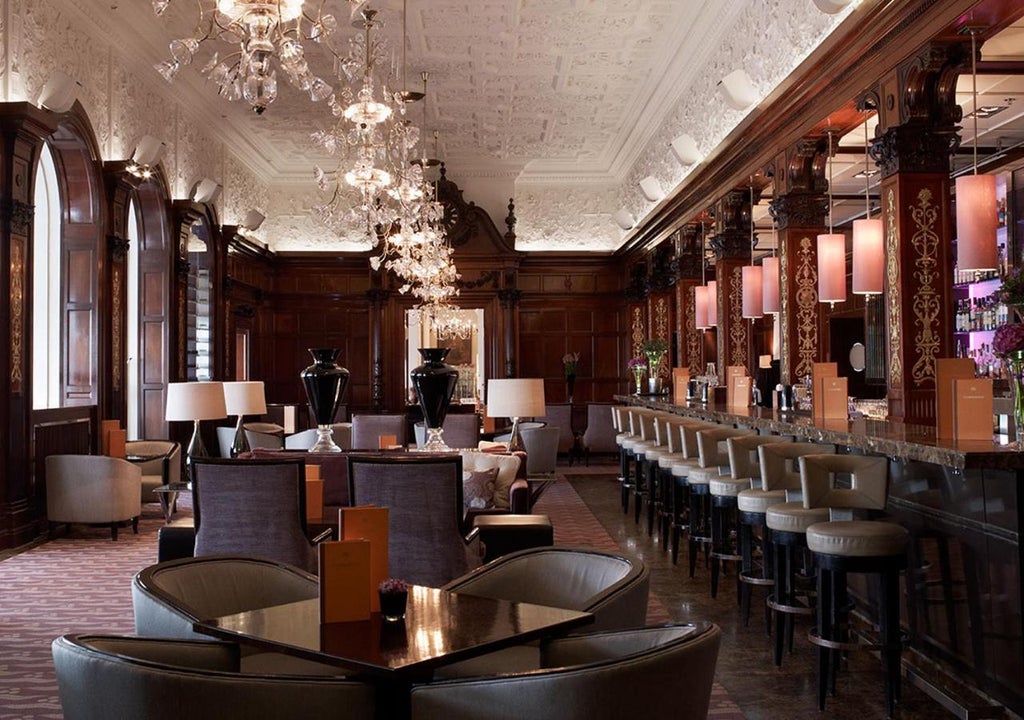
<svg viewBox="0 0 1024 720">
<path fill-rule="evenodd" d="M 752 357 L 751 323 L 743 319 L 742 267 L 751 261 L 751 190 L 729 190 L 715 207 L 715 280 L 718 283 L 718 376 L 725 382 L 725 369 L 741 365 L 755 369 Z"/>
</svg>

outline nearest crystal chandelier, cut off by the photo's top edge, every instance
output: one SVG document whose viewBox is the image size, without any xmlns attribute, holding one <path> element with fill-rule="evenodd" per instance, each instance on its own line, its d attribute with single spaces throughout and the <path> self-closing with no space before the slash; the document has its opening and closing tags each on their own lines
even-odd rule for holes
<svg viewBox="0 0 1024 720">
<path fill-rule="evenodd" d="M 317 11 L 309 13 L 303 0 L 198 0 L 193 37 L 172 40 L 171 57 L 158 63 L 157 72 L 173 81 L 204 42 L 217 40 L 236 49 L 223 59 L 214 51 L 202 72 L 228 100 L 245 98 L 253 112 L 262 114 L 278 97 L 278 66 L 314 102 L 325 100 L 333 88 L 310 72 L 301 42 L 312 40 L 334 53 L 330 36 L 338 20 L 324 12 L 325 3 L 321 0 Z M 153 0 L 154 12 L 163 14 L 169 4 L 170 0 Z"/>
</svg>

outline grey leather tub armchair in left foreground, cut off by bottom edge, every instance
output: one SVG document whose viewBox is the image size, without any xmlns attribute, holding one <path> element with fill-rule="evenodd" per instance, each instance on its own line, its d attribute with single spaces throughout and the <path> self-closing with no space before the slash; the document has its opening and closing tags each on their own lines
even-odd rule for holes
<svg viewBox="0 0 1024 720">
<path fill-rule="evenodd" d="M 241 673 L 233 643 L 65 635 L 52 652 L 67 720 L 375 716 L 373 685 Z"/>
</svg>

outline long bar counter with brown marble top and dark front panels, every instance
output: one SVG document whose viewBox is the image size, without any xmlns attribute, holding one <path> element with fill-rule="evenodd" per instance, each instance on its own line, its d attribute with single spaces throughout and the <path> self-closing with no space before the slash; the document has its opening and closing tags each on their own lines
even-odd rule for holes
<svg viewBox="0 0 1024 720">
<path fill-rule="evenodd" d="M 668 395 L 617 400 L 889 458 L 888 511 L 911 534 L 902 622 L 911 677 L 942 673 L 1024 715 L 1020 492 L 1016 443 L 939 439 L 935 428 L 879 420 L 814 420 L 767 408 L 679 406 Z M 851 589 L 854 586 L 851 584 Z M 868 596 L 866 588 L 862 589 Z M 860 594 L 860 593 L 858 593 Z M 918 678 L 914 678 L 918 679 Z M 927 689 L 927 688 L 926 688 Z M 945 702 L 955 690 L 943 690 Z M 963 712 L 963 710 L 961 711 Z"/>
</svg>

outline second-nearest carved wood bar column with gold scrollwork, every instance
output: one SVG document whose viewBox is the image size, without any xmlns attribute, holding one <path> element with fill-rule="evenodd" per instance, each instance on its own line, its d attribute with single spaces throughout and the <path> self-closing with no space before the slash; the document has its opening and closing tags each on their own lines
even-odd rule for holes
<svg viewBox="0 0 1024 720">
<path fill-rule="evenodd" d="M 826 138 L 806 138 L 775 159 L 771 211 L 778 222 L 779 381 L 785 384 L 800 382 L 825 355 L 817 236 L 828 214 L 827 145 Z"/>
</svg>

